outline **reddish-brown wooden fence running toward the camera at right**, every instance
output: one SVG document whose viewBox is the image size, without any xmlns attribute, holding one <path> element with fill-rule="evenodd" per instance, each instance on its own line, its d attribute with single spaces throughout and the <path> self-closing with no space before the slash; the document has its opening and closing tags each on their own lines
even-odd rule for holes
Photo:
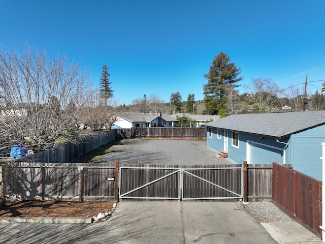
<svg viewBox="0 0 325 244">
<path fill-rule="evenodd" d="M 322 182 L 273 163 L 272 201 L 306 228 L 321 235 Z"/>
</svg>

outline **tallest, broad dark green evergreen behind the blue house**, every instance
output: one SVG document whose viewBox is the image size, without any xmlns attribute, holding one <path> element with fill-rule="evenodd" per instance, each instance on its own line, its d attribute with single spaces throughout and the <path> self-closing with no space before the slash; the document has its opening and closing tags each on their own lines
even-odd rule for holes
<svg viewBox="0 0 325 244">
<path fill-rule="evenodd" d="M 220 52 L 212 60 L 210 70 L 204 77 L 208 79 L 208 83 L 203 85 L 206 102 L 206 110 L 210 114 L 217 114 L 219 109 L 226 109 L 226 88 L 233 85 L 238 87 L 236 83 L 242 80 L 238 77 L 241 69 L 237 68 L 235 63 L 230 63 L 228 54 Z"/>
</svg>

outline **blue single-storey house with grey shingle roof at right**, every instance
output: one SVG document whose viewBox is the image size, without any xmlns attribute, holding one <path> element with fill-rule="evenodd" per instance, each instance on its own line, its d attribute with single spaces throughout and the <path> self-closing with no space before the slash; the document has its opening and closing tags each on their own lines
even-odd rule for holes
<svg viewBox="0 0 325 244">
<path fill-rule="evenodd" d="M 207 145 L 236 163 L 292 164 L 322 179 L 325 111 L 234 114 L 207 126 Z"/>
</svg>

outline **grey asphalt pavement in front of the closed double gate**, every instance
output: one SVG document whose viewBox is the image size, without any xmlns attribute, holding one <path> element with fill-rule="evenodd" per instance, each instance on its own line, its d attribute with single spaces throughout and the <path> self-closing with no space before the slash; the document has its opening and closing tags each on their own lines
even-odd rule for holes
<svg viewBox="0 0 325 244">
<path fill-rule="evenodd" d="M 1 243 L 277 243 L 241 202 L 120 202 L 101 223 L 0 228 Z"/>
</svg>

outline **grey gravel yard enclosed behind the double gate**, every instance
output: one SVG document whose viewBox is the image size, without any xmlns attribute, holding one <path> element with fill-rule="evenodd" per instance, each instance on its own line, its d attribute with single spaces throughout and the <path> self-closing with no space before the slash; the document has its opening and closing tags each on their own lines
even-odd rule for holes
<svg viewBox="0 0 325 244">
<path fill-rule="evenodd" d="M 206 141 L 124 139 L 113 146 L 101 162 L 169 165 L 233 164 L 229 159 L 216 157 L 217 151 Z"/>
</svg>

